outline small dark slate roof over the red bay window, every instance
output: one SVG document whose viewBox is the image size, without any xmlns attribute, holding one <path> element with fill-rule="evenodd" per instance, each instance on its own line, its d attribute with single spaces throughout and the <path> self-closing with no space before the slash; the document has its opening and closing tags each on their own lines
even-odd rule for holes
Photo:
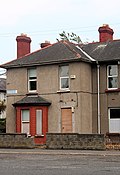
<svg viewBox="0 0 120 175">
<path fill-rule="evenodd" d="M 26 96 L 23 99 L 17 101 L 13 106 L 49 106 L 51 105 L 46 99 L 40 96 Z"/>
</svg>

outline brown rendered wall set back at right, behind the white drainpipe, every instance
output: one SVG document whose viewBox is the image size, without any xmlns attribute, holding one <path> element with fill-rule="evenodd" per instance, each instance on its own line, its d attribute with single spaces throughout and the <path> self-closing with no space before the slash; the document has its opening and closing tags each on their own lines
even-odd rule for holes
<svg viewBox="0 0 120 175">
<path fill-rule="evenodd" d="M 109 63 L 110 65 L 113 63 Z M 117 64 L 117 63 L 116 63 Z M 120 108 L 120 65 L 118 65 L 118 89 L 107 90 L 107 65 L 100 65 L 100 129 L 101 133 L 109 132 L 109 108 Z M 93 133 L 97 133 L 97 67 L 92 69 L 93 96 L 92 96 L 92 116 Z"/>
</svg>

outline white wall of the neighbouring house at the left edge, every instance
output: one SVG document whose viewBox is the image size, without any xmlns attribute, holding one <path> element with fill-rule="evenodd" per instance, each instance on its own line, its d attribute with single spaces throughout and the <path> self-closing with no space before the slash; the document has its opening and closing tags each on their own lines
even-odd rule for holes
<svg viewBox="0 0 120 175">
<path fill-rule="evenodd" d="M 0 78 L 0 119 L 6 118 L 6 79 Z"/>
</svg>

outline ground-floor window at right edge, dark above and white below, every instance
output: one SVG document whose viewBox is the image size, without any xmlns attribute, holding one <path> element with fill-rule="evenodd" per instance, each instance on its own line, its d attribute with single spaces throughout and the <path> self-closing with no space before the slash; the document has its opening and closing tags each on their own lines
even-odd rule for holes
<svg viewBox="0 0 120 175">
<path fill-rule="evenodd" d="M 120 133 L 120 108 L 109 108 L 109 132 Z"/>
</svg>

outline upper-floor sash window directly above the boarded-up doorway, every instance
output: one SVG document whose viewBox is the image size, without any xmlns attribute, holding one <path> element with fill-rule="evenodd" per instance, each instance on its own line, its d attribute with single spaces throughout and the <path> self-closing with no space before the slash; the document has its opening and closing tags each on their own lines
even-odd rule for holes
<svg viewBox="0 0 120 175">
<path fill-rule="evenodd" d="M 60 66 L 59 69 L 59 75 L 60 75 L 60 89 L 61 90 L 67 90 L 69 89 L 69 66 Z"/>
</svg>

